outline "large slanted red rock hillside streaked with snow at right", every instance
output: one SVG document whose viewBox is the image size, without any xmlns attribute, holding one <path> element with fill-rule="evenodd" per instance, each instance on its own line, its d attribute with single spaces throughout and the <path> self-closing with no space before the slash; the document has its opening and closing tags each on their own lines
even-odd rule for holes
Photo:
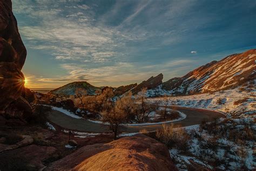
<svg viewBox="0 0 256 171">
<path fill-rule="evenodd" d="M 255 79 L 255 60 L 256 49 L 232 54 L 200 66 L 183 77 L 172 78 L 164 82 L 161 89 L 171 94 L 194 94 L 234 88 Z"/>
</svg>

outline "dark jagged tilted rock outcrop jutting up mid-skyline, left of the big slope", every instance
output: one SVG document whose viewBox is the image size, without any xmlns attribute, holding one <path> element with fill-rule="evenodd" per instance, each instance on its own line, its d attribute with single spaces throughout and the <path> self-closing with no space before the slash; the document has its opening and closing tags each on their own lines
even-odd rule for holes
<svg viewBox="0 0 256 171">
<path fill-rule="evenodd" d="M 137 94 L 144 87 L 146 87 L 148 90 L 151 89 L 151 88 L 156 88 L 157 86 L 159 86 L 160 84 L 163 83 L 163 81 L 162 81 L 163 78 L 164 78 L 164 76 L 163 76 L 162 73 L 160 73 L 156 77 L 150 77 L 146 81 L 143 81 L 142 83 L 140 83 L 139 85 L 134 87 L 131 91 L 132 91 L 133 94 Z"/>
</svg>

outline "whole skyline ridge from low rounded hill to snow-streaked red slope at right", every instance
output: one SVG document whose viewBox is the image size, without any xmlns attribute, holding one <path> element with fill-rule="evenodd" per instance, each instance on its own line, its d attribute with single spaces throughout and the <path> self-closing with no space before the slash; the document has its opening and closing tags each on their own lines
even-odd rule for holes
<svg viewBox="0 0 256 171">
<path fill-rule="evenodd" d="M 254 59 L 254 61 L 253 61 Z M 173 94 L 173 95 L 191 95 L 195 93 L 206 93 L 213 91 L 225 90 L 227 88 L 237 87 L 245 81 L 255 79 L 255 60 L 256 49 L 251 49 L 242 53 L 231 54 L 219 61 L 213 60 L 210 63 L 197 67 L 183 77 L 174 77 L 163 82 L 163 74 L 156 77 L 150 77 L 140 84 L 134 83 L 125 86 L 113 88 L 115 95 L 122 95 L 131 91 L 137 94 L 146 87 L 155 95 Z M 50 91 L 51 94 L 74 95 L 75 88 L 83 87 L 80 84 L 86 84 L 88 94 L 93 95 L 97 89 L 103 87 L 93 86 L 86 81 L 76 81 L 66 84 L 62 87 Z M 72 90 L 68 90 L 71 86 Z M 77 86 L 78 85 L 78 86 Z M 66 90 L 63 90 L 65 89 Z M 91 89 L 90 89 L 91 88 Z M 155 91 L 155 92 L 154 92 Z M 72 92 L 72 93 L 69 93 Z M 159 94 L 160 92 L 160 94 Z"/>
</svg>

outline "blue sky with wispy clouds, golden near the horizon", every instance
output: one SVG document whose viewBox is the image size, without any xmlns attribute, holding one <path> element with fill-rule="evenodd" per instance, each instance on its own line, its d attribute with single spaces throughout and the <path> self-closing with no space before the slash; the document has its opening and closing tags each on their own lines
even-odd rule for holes
<svg viewBox="0 0 256 171">
<path fill-rule="evenodd" d="M 26 87 L 182 77 L 256 48 L 256 1 L 12 0 Z"/>
</svg>

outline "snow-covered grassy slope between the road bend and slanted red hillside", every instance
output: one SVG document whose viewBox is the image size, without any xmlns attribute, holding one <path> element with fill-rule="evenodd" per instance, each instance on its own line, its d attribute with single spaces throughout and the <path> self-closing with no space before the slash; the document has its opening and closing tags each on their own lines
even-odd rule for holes
<svg viewBox="0 0 256 171">
<path fill-rule="evenodd" d="M 219 91 L 214 93 L 204 93 L 196 95 L 184 95 L 169 97 L 171 100 L 170 105 L 177 105 L 182 107 L 191 108 L 204 108 L 207 110 L 213 110 L 223 112 L 227 116 L 233 114 L 244 113 L 243 115 L 255 114 L 256 105 L 256 91 L 255 88 L 250 87 L 237 87 L 231 90 Z M 242 99 L 247 99 L 242 101 Z M 161 101 L 163 98 L 150 98 L 150 102 Z M 240 100 L 241 102 L 235 101 Z M 228 114 L 230 113 L 230 114 Z"/>
</svg>

